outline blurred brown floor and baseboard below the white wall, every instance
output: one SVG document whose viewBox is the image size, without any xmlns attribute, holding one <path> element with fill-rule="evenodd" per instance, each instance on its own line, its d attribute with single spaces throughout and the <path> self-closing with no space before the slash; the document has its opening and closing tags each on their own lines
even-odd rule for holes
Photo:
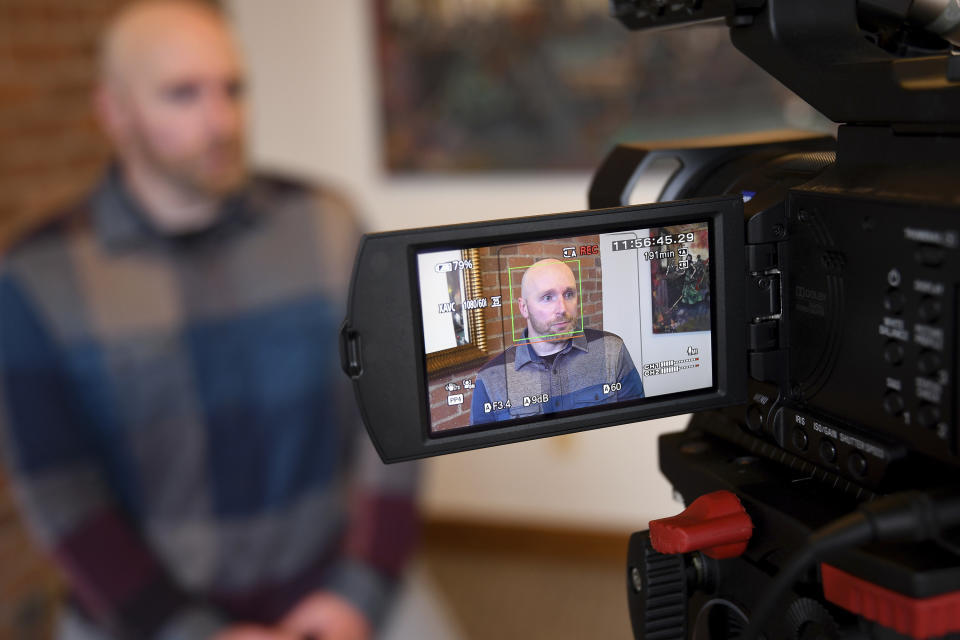
<svg viewBox="0 0 960 640">
<path fill-rule="evenodd" d="M 464 640 L 628 640 L 626 536 L 489 529 L 458 545 L 428 532 L 422 566 Z M 540 540 L 540 548 L 530 548 Z M 608 544 L 601 544 L 607 540 Z M 567 551 L 565 552 L 564 549 Z"/>
</svg>

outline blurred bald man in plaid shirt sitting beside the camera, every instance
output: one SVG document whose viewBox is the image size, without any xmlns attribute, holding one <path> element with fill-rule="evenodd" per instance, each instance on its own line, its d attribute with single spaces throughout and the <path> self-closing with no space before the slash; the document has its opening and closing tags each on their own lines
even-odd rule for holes
<svg viewBox="0 0 960 640">
<path fill-rule="evenodd" d="M 115 162 L 0 263 L 0 433 L 63 570 L 60 638 L 363 640 L 415 538 L 336 335 L 359 238 L 253 175 L 209 5 L 128 6 L 95 102 Z"/>
</svg>

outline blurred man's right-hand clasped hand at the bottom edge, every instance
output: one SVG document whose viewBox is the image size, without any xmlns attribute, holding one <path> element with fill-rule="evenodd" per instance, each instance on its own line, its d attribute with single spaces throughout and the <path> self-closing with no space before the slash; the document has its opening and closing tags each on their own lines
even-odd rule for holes
<svg viewBox="0 0 960 640">
<path fill-rule="evenodd" d="M 370 640 L 372 636 L 370 623 L 363 614 L 330 591 L 319 591 L 301 600 L 280 621 L 280 629 L 298 638 L 316 640 Z"/>
</svg>

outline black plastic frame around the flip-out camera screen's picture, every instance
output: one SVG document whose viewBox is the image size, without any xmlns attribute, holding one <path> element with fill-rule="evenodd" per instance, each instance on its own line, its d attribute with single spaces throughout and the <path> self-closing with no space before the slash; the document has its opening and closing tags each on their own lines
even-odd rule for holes
<svg viewBox="0 0 960 640">
<path fill-rule="evenodd" d="M 417 254 L 611 231 L 708 223 L 713 386 L 504 426 L 432 433 Z M 737 196 L 513 218 L 364 236 L 345 327 L 361 366 L 352 375 L 360 413 L 386 462 L 574 433 L 741 403 L 746 398 L 743 202 Z M 405 277 L 397 277 L 403 265 Z M 391 312 L 390 323 L 384 309 Z"/>
</svg>

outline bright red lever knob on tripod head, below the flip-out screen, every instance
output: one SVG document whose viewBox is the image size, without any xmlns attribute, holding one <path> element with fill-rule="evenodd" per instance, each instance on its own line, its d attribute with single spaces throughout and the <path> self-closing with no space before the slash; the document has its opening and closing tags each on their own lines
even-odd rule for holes
<svg viewBox="0 0 960 640">
<path fill-rule="evenodd" d="M 702 551 L 711 558 L 734 558 L 747 549 L 753 521 L 730 491 L 714 491 L 672 518 L 650 521 L 650 542 L 660 553 Z"/>
</svg>

